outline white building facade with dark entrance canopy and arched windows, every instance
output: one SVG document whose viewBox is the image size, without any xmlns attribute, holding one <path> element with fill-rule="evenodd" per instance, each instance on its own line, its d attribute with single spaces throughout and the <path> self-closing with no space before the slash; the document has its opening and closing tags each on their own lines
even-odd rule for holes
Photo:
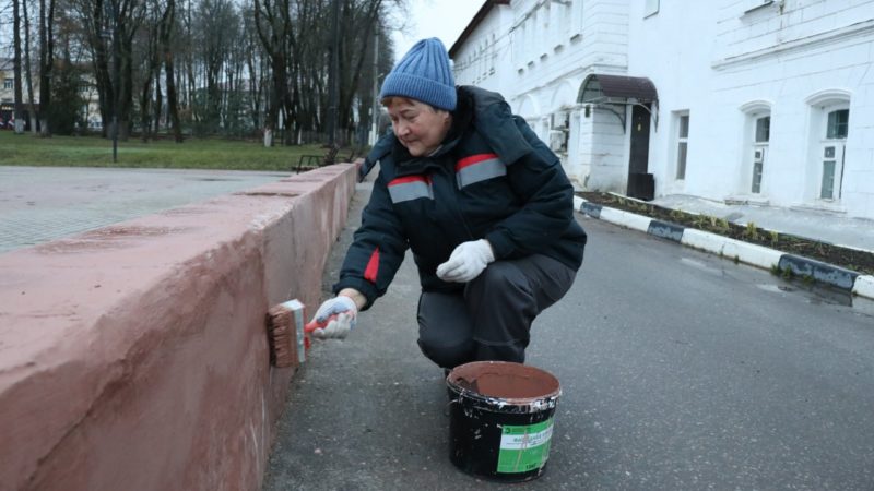
<svg viewBox="0 0 874 491">
<path fill-rule="evenodd" d="M 874 0 L 489 1 L 450 56 L 578 189 L 874 218 Z"/>
</svg>

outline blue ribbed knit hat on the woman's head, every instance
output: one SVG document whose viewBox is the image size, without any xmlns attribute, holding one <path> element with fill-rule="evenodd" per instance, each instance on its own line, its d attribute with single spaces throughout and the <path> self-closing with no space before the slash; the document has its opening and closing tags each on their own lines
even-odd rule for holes
<svg viewBox="0 0 874 491">
<path fill-rule="evenodd" d="M 391 96 L 409 97 L 448 111 L 456 109 L 456 81 L 440 39 L 422 39 L 391 69 L 379 98 Z"/>
</svg>

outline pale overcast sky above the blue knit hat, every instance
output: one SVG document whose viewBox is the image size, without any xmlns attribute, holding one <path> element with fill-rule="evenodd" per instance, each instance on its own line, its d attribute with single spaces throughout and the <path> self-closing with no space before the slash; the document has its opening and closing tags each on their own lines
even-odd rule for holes
<svg viewBox="0 0 874 491">
<path fill-rule="evenodd" d="M 451 48 L 484 2 L 482 0 L 408 0 L 408 3 L 410 15 L 406 17 L 406 32 L 395 32 L 393 35 L 398 59 L 417 40 L 425 37 L 438 37 L 446 45 L 446 49 Z"/>
</svg>

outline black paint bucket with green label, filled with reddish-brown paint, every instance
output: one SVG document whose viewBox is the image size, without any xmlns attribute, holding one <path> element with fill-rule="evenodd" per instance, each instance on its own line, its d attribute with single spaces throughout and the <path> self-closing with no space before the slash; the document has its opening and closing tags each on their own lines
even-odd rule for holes
<svg viewBox="0 0 874 491">
<path fill-rule="evenodd" d="M 505 361 L 456 367 L 449 388 L 449 458 L 496 481 L 527 481 L 546 469 L 562 388 L 551 373 Z"/>
</svg>

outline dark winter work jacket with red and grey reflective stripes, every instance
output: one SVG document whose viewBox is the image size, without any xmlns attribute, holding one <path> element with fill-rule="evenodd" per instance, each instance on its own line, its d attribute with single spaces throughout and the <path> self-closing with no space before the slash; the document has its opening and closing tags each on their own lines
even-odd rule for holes
<svg viewBox="0 0 874 491">
<path fill-rule="evenodd" d="M 541 253 L 579 268 L 586 232 L 558 157 L 499 94 L 458 91 L 452 127 L 435 154 L 412 157 L 388 134 L 367 156 L 379 161 L 379 176 L 334 292 L 355 288 L 369 308 L 408 248 L 424 290 L 460 290 L 463 284 L 437 277 L 437 265 L 458 244 L 483 238 L 498 261 Z"/>
</svg>

